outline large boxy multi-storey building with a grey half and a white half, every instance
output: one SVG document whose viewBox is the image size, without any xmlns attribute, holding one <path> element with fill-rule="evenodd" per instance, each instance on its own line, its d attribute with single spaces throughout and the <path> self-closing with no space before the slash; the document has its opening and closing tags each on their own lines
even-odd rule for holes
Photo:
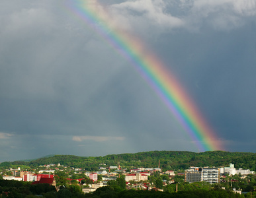
<svg viewBox="0 0 256 198">
<path fill-rule="evenodd" d="M 220 172 L 218 168 L 191 167 L 185 170 L 185 182 L 220 183 Z"/>
</svg>

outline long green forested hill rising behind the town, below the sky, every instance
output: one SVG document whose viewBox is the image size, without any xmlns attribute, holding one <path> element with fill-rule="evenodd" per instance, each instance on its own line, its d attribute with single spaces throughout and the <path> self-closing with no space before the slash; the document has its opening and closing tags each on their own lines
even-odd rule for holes
<svg viewBox="0 0 256 198">
<path fill-rule="evenodd" d="M 163 170 L 185 170 L 189 166 L 229 166 L 235 164 L 235 168 L 256 170 L 256 153 L 252 152 L 188 152 L 188 151 L 149 151 L 135 154 L 110 154 L 99 157 L 81 157 L 71 155 L 55 155 L 39 158 L 30 162 L 15 161 L 3 162 L 2 167 L 24 165 L 36 167 L 44 164 L 58 164 L 72 166 L 74 168 L 85 168 L 86 170 L 98 170 L 99 164 L 106 166 L 120 166 L 123 168 L 158 167 Z"/>
</svg>

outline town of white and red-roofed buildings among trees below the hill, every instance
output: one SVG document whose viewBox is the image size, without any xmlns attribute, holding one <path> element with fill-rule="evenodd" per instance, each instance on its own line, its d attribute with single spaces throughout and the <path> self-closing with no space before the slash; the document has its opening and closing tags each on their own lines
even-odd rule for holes
<svg viewBox="0 0 256 198">
<path fill-rule="evenodd" d="M 161 152 L 158 153 L 161 154 Z M 183 154 L 182 152 L 179 153 Z M 187 157 L 185 155 L 185 158 Z M 67 157 L 52 156 L 38 160 L 60 160 L 62 158 Z M 78 160 L 75 159 L 75 156 L 69 156 L 69 158 L 73 158 L 73 162 Z M 68 162 L 72 162 L 72 160 L 69 159 L 64 163 L 67 164 Z M 235 164 L 232 163 L 229 166 L 189 166 L 184 170 L 167 170 L 168 166 L 163 168 L 163 163 L 166 161 L 162 162 L 161 160 L 156 162 L 158 166 L 155 168 L 128 166 L 131 164 L 122 166 L 120 162 L 115 166 L 115 164 L 108 164 L 108 160 L 106 162 L 99 163 L 97 168 L 93 168 L 93 171 L 89 171 L 91 168 L 86 166 L 86 162 L 83 162 L 81 168 L 77 164 L 72 167 L 60 163 L 43 164 L 29 168 L 22 162 L 3 162 L 0 164 L 2 181 L 0 182 L 0 187 L 2 186 L 0 189 L 8 189 L 4 187 L 3 181 L 17 181 L 23 182 L 23 185 L 35 186 L 36 189 L 40 189 L 40 185 L 52 186 L 52 189 L 48 189 L 48 193 L 55 197 L 58 197 L 59 193 L 64 190 L 69 191 L 69 193 L 76 192 L 75 196 L 79 194 L 79 196 L 85 197 L 99 195 L 99 192 L 105 190 L 108 193 L 111 191 L 116 191 L 116 193 L 120 191 L 161 192 L 167 193 L 170 197 L 191 190 L 226 192 L 232 193 L 230 196 L 236 197 L 238 195 L 241 197 L 255 196 L 255 170 L 235 168 Z M 8 166 L 8 163 L 12 168 L 4 168 Z M 11 165 L 12 163 L 13 165 Z M 33 164 L 35 161 L 30 163 Z M 20 166 L 14 164 L 20 164 Z M 9 191 L 3 191 L 2 195 L 9 194 L 11 196 L 10 189 L 9 187 Z M 47 190 L 34 192 L 32 188 L 30 191 L 33 195 L 37 192 L 38 195 L 47 197 Z"/>
</svg>

